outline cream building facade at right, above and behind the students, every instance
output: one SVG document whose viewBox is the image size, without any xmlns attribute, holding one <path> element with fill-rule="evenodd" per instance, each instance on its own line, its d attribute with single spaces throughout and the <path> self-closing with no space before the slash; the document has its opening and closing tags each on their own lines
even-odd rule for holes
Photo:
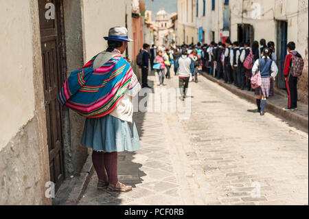
<svg viewBox="0 0 309 219">
<path fill-rule="evenodd" d="M 232 41 L 273 41 L 279 73 L 276 86 L 285 89 L 283 76 L 286 44 L 294 41 L 305 60 L 303 76 L 299 78 L 299 100 L 308 103 L 308 0 L 238 0 L 231 7 Z"/>
</svg>

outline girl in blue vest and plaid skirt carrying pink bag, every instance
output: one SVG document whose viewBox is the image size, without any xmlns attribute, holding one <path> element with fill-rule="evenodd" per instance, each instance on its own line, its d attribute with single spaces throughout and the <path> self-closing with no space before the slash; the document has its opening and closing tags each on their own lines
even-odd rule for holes
<svg viewBox="0 0 309 219">
<path fill-rule="evenodd" d="M 256 60 L 252 68 L 253 76 L 255 73 L 260 71 L 262 78 L 261 86 L 258 87 L 258 89 L 255 89 L 255 94 L 257 95 L 256 99 L 258 112 L 260 112 L 260 115 L 264 115 L 266 101 L 269 97 L 269 92 L 271 91 L 271 80 L 273 80 L 278 73 L 278 67 L 276 63 L 271 60 L 271 58 L 269 58 L 268 54 L 269 49 L 265 48 L 262 52 L 262 58 Z"/>
</svg>

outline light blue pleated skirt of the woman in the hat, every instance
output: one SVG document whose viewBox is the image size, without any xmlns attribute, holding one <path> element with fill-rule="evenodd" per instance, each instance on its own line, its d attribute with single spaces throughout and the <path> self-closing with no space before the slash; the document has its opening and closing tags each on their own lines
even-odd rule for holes
<svg viewBox="0 0 309 219">
<path fill-rule="evenodd" d="M 111 115 L 87 118 L 82 143 L 100 152 L 134 152 L 141 148 L 135 122 L 124 122 Z"/>
</svg>

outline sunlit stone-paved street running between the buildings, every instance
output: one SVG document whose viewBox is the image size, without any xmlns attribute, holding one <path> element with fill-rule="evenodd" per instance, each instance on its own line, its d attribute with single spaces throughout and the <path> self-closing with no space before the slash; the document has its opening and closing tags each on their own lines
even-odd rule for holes
<svg viewBox="0 0 309 219">
<path fill-rule="evenodd" d="M 167 89 L 178 87 L 171 74 Z M 142 149 L 119 154 L 119 180 L 133 192 L 98 190 L 93 174 L 79 205 L 308 205 L 308 134 L 198 80 L 190 119 L 135 114 Z"/>
</svg>

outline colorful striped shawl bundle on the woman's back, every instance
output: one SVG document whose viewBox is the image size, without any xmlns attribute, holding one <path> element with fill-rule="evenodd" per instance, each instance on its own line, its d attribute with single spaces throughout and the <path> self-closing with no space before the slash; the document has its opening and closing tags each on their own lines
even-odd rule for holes
<svg viewBox="0 0 309 219">
<path fill-rule="evenodd" d="M 134 87 L 133 69 L 119 54 L 94 70 L 93 57 L 82 69 L 73 71 L 65 81 L 58 102 L 89 118 L 108 115 L 124 97 L 128 87 Z M 134 82 L 136 83 L 136 82 Z"/>
</svg>

